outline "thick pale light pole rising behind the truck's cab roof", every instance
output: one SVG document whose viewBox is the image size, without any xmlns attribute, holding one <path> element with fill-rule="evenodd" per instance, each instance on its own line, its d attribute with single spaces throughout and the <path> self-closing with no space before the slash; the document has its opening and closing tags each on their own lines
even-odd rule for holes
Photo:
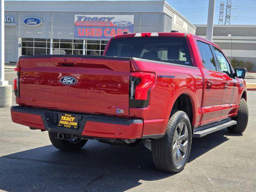
<svg viewBox="0 0 256 192">
<path fill-rule="evenodd" d="M 206 39 L 212 41 L 215 0 L 209 0 Z"/>
</svg>

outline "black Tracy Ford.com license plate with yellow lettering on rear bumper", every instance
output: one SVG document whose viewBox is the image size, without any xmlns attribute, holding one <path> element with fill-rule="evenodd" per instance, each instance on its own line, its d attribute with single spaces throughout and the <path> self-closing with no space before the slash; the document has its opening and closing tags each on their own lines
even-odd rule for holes
<svg viewBox="0 0 256 192">
<path fill-rule="evenodd" d="M 59 127 L 78 129 L 79 116 L 70 113 L 58 114 Z"/>
</svg>

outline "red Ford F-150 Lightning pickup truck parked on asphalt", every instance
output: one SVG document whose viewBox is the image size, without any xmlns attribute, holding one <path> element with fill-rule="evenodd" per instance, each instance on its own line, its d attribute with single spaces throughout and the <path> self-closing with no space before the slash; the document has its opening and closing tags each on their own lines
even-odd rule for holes
<svg viewBox="0 0 256 192">
<path fill-rule="evenodd" d="M 248 123 L 246 69 L 193 34 L 117 35 L 103 56 L 21 56 L 15 70 L 12 121 L 48 131 L 60 150 L 143 143 L 158 169 L 178 172 L 192 137 Z"/>
</svg>

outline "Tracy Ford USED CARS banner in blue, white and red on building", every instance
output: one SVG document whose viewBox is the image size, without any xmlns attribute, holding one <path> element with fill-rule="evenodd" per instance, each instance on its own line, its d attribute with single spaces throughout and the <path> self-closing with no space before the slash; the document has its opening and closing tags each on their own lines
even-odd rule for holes
<svg viewBox="0 0 256 192">
<path fill-rule="evenodd" d="M 75 38 L 110 39 L 133 32 L 134 15 L 75 15 Z"/>
</svg>

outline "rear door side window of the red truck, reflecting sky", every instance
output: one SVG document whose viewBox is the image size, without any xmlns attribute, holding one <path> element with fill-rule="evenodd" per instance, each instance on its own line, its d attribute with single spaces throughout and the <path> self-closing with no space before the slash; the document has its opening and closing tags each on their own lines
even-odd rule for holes
<svg viewBox="0 0 256 192">
<path fill-rule="evenodd" d="M 200 51 L 200 55 L 202 57 L 202 62 L 204 64 L 204 67 L 211 71 L 217 71 L 210 46 L 201 41 L 197 41 L 197 45 Z"/>
</svg>

